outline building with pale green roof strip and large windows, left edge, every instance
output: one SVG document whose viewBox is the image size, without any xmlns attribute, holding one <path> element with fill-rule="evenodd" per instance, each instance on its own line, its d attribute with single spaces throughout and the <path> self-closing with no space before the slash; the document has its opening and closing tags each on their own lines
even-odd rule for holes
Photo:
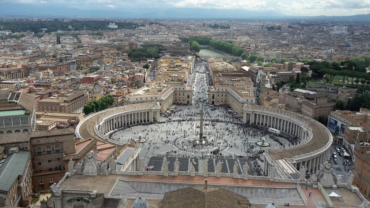
<svg viewBox="0 0 370 208">
<path fill-rule="evenodd" d="M 0 134 L 36 130 L 34 94 L 0 93 Z"/>
</svg>

